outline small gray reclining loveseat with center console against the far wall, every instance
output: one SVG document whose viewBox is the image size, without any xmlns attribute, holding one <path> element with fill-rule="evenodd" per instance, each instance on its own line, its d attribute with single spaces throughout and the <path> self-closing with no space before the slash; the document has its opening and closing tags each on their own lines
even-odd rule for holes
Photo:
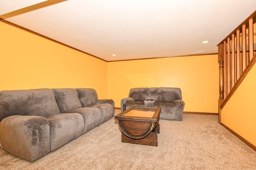
<svg viewBox="0 0 256 170">
<path fill-rule="evenodd" d="M 121 111 L 132 106 L 161 107 L 160 119 L 182 120 L 185 103 L 180 88 L 132 88 L 121 100 Z"/>
</svg>

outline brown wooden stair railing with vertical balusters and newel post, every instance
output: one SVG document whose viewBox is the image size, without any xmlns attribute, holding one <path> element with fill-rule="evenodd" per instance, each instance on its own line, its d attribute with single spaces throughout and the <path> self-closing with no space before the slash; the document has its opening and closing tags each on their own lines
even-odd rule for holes
<svg viewBox="0 0 256 170">
<path fill-rule="evenodd" d="M 256 10 L 217 46 L 220 123 L 221 109 L 256 63 Z"/>
</svg>

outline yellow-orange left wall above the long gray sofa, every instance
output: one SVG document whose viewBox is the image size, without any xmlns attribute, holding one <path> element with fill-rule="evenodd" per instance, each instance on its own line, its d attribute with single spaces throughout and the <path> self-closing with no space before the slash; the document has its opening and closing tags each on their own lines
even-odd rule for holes
<svg viewBox="0 0 256 170">
<path fill-rule="evenodd" d="M 0 90 L 94 88 L 107 97 L 107 62 L 0 22 Z"/>
</svg>

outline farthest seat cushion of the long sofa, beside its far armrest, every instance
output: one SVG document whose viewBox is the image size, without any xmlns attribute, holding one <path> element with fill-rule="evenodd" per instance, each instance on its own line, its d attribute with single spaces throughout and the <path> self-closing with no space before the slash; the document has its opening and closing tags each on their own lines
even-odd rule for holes
<svg viewBox="0 0 256 170">
<path fill-rule="evenodd" d="M 100 124 L 113 117 L 113 107 L 111 104 L 96 104 L 89 107 L 98 107 L 100 109 L 102 114 Z"/>
</svg>

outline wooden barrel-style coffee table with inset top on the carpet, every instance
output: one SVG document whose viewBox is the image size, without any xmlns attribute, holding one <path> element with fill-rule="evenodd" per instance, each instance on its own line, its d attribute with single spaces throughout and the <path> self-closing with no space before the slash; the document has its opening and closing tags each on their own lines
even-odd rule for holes
<svg viewBox="0 0 256 170">
<path fill-rule="evenodd" d="M 122 142 L 157 146 L 161 107 L 131 107 L 115 116 L 122 131 Z"/>
</svg>

